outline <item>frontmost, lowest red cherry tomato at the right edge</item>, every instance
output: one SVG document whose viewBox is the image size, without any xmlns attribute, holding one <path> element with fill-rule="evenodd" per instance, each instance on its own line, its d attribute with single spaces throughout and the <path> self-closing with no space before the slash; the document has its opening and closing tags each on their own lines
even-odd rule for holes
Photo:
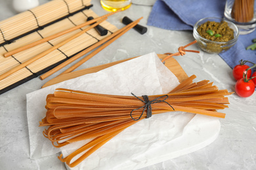
<svg viewBox="0 0 256 170">
<path fill-rule="evenodd" d="M 244 78 L 241 78 L 236 82 L 235 90 L 240 97 L 249 97 L 255 90 L 255 84 L 253 80 L 246 82 Z"/>
</svg>

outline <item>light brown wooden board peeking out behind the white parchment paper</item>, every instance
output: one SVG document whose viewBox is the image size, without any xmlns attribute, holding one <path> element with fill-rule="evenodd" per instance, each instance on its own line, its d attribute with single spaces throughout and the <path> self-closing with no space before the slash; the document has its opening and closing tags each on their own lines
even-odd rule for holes
<svg viewBox="0 0 256 170">
<path fill-rule="evenodd" d="M 165 58 L 167 55 L 165 54 L 158 54 L 158 57 L 160 59 Z M 70 80 L 72 78 L 76 78 L 78 76 L 86 75 L 89 73 L 95 73 L 97 71 L 100 71 L 102 69 L 106 69 L 108 67 L 111 67 L 113 65 L 116 65 L 118 63 L 122 63 L 124 61 L 127 61 L 129 59 L 133 58 L 128 58 L 128 59 L 122 59 L 120 61 L 114 61 L 112 63 L 106 63 L 104 65 L 98 65 L 95 67 L 90 67 L 87 69 L 81 69 L 78 71 L 74 71 L 72 73 L 66 73 L 65 75 L 60 75 L 56 76 L 55 78 L 49 80 L 49 82 L 45 83 L 42 88 L 45 88 L 47 86 L 51 86 L 53 84 L 57 84 L 59 82 L 63 82 L 65 80 Z M 178 61 L 175 58 L 169 58 L 165 61 L 165 66 L 179 79 L 179 82 L 182 82 L 185 78 L 188 78 L 188 75 L 186 75 L 186 72 L 182 69 L 181 65 L 179 65 Z"/>
</svg>

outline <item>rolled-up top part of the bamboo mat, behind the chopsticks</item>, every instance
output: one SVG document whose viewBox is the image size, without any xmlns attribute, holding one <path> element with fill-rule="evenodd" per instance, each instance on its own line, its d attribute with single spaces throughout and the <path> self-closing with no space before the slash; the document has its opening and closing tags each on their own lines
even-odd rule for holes
<svg viewBox="0 0 256 170">
<path fill-rule="evenodd" d="M 91 0 L 54 0 L 0 22 L 0 44 L 8 44 L 20 35 L 42 29 L 44 25 L 88 9 Z"/>
</svg>

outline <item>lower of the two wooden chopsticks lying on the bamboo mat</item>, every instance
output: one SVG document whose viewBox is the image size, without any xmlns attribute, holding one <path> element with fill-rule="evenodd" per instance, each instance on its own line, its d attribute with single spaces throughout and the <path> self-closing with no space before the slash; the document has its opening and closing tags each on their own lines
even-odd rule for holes
<svg viewBox="0 0 256 170">
<path fill-rule="evenodd" d="M 9 75 L 12 75 L 12 73 L 15 73 L 16 71 L 19 71 L 20 69 L 23 69 L 24 67 L 26 67 L 27 65 L 30 65 L 31 63 L 33 63 L 34 61 L 36 61 L 39 58 L 42 58 L 43 56 L 49 54 L 50 52 L 52 52 L 53 50 L 56 50 L 57 48 L 59 48 L 60 46 L 66 44 L 67 42 L 72 41 L 73 39 L 79 37 L 80 35 L 82 35 L 83 33 L 85 33 L 86 31 L 88 31 L 89 29 L 92 29 L 93 27 L 95 27 L 96 25 L 100 24 L 101 22 L 103 22 L 104 20 L 106 20 L 106 18 L 103 18 L 102 20 L 96 22 L 95 24 L 87 27 L 86 29 L 83 29 L 82 31 L 80 31 L 79 33 L 73 35 L 72 37 L 60 42 L 59 44 L 56 44 L 55 46 L 49 48 L 48 50 L 45 50 L 44 52 L 41 52 L 40 54 L 38 54 L 37 56 L 28 59 L 28 61 L 25 61 L 24 63 L 21 63 L 20 65 L 14 67 L 13 69 L 3 73 L 2 75 L 0 75 L 0 80 L 3 80 L 3 78 L 6 78 Z"/>
</svg>

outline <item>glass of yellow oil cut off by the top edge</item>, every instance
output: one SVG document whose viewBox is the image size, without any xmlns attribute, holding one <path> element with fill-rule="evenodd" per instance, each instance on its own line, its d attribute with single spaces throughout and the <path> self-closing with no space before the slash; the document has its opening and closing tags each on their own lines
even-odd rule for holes
<svg viewBox="0 0 256 170">
<path fill-rule="evenodd" d="M 100 3 L 103 9 L 112 12 L 119 9 L 125 10 L 131 7 L 131 0 L 100 0 Z"/>
</svg>

